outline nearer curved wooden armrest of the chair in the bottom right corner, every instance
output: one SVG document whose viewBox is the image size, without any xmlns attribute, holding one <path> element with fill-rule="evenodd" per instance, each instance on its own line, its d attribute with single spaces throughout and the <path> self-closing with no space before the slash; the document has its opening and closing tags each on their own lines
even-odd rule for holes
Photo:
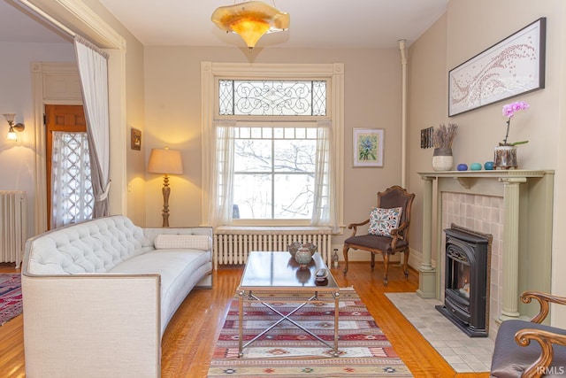
<svg viewBox="0 0 566 378">
<path fill-rule="evenodd" d="M 530 366 L 528 366 L 523 377 L 540 376 L 541 371 L 546 371 L 554 357 L 553 343 L 566 346 L 566 335 L 556 334 L 543 329 L 524 328 L 515 334 L 515 341 L 521 346 L 528 346 L 534 340 L 540 344 L 542 352 Z"/>
</svg>

